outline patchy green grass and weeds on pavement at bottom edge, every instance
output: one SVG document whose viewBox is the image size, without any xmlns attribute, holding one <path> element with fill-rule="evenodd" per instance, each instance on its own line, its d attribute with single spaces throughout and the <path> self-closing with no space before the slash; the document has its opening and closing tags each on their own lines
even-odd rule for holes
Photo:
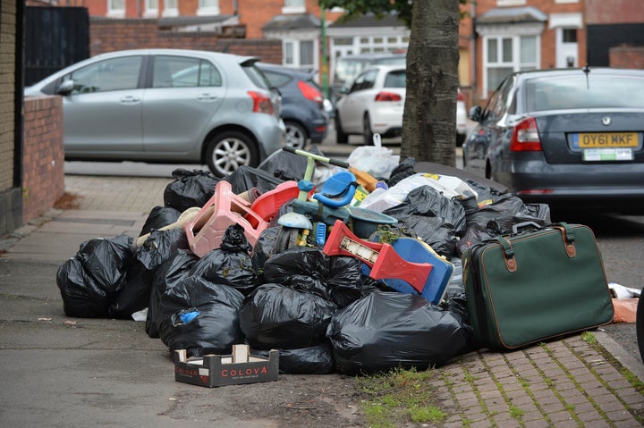
<svg viewBox="0 0 644 428">
<path fill-rule="evenodd" d="M 438 374 L 432 369 L 419 372 L 413 368 L 358 377 L 367 426 L 391 428 L 443 421 L 447 415 L 436 406 L 430 386 L 436 379 Z"/>
</svg>

